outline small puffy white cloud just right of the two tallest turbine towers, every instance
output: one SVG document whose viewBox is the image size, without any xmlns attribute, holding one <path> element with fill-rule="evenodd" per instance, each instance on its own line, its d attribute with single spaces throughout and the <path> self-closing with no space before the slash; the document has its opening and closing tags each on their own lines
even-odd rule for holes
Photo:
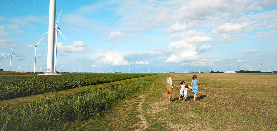
<svg viewBox="0 0 277 131">
<path fill-rule="evenodd" d="M 86 49 L 86 45 L 83 41 L 75 41 L 71 46 L 63 46 L 63 43 L 59 42 L 57 48 L 62 52 L 82 52 Z"/>
</svg>

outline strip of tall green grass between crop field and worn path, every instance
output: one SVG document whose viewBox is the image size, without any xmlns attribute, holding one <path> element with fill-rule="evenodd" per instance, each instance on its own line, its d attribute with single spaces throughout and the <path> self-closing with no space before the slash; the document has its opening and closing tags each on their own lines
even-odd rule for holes
<svg viewBox="0 0 277 131">
<path fill-rule="evenodd" d="M 1 130 L 47 130 L 66 122 L 98 119 L 111 109 L 114 103 L 132 96 L 140 87 L 157 76 L 143 78 L 113 88 L 87 91 L 74 96 L 60 96 L 30 104 L 0 105 Z"/>
</svg>

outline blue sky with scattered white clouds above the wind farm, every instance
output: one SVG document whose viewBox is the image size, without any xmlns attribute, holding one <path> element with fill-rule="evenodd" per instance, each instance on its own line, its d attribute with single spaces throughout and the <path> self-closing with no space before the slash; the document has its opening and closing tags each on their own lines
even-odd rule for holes
<svg viewBox="0 0 277 131">
<path fill-rule="evenodd" d="M 56 21 L 59 14 L 66 38 L 58 34 L 59 72 L 60 66 L 125 73 L 277 67 L 276 0 L 57 0 Z M 9 70 L 5 56 L 13 45 L 11 69 L 34 71 L 35 48 L 26 44 L 42 38 L 36 71 L 46 69 L 48 20 L 49 1 L 0 1 L 0 69 Z"/>
</svg>

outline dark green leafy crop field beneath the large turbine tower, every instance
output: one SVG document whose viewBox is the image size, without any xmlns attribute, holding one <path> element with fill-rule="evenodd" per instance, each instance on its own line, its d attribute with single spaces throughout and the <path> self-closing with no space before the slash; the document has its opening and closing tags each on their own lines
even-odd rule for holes
<svg viewBox="0 0 277 131">
<path fill-rule="evenodd" d="M 64 74 L 48 76 L 1 76 L 0 100 L 97 85 L 154 74 Z"/>
</svg>

